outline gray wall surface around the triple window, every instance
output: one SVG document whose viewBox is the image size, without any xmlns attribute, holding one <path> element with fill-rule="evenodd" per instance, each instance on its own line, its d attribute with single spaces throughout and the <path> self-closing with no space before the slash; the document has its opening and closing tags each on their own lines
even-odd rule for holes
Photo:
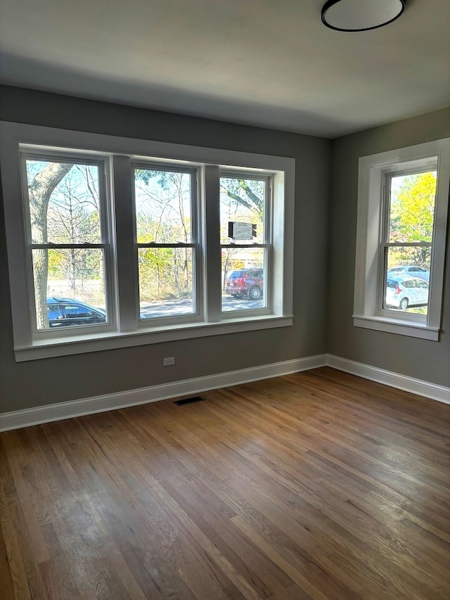
<svg viewBox="0 0 450 600">
<path fill-rule="evenodd" d="M 298 274 L 292 327 L 15 363 L 1 206 L 0 412 L 326 352 L 330 141 L 13 87 L 0 98 L 1 120 L 295 158 Z M 162 367 L 167 355 L 175 366 Z"/>
</svg>

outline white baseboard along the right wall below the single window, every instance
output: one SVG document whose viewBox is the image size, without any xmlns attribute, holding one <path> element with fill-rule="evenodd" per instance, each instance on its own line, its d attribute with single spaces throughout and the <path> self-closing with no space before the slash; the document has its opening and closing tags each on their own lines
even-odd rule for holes
<svg viewBox="0 0 450 600">
<path fill-rule="evenodd" d="M 346 371 L 352 375 L 358 375 L 377 383 L 390 385 L 392 388 L 406 390 L 406 392 L 412 392 L 419 396 L 425 396 L 432 400 L 450 404 L 450 388 L 446 388 L 444 385 L 436 385 L 435 383 L 429 383 L 428 381 L 400 375 L 392 371 L 386 371 L 385 369 L 378 369 L 376 366 L 333 355 L 327 355 L 326 364 L 339 371 Z"/>
</svg>

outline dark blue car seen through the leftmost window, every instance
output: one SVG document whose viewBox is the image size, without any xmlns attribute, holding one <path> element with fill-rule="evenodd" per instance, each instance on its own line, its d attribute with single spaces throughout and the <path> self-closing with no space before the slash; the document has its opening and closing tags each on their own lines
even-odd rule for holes
<svg viewBox="0 0 450 600">
<path fill-rule="evenodd" d="M 106 322 L 103 308 L 95 308 L 73 298 L 47 298 L 49 326 L 92 325 Z"/>
</svg>

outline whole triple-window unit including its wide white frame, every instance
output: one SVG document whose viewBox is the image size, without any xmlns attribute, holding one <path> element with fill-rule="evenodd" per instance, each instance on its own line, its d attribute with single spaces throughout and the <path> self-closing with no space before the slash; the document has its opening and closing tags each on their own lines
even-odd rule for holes
<svg viewBox="0 0 450 600">
<path fill-rule="evenodd" d="M 293 159 L 1 133 L 16 360 L 292 324 Z"/>
</svg>

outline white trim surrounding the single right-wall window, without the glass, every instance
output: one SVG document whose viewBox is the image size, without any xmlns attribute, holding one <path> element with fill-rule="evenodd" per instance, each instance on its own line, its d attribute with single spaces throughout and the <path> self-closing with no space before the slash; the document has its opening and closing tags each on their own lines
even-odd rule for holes
<svg viewBox="0 0 450 600">
<path fill-rule="evenodd" d="M 404 312 L 396 314 L 391 310 L 380 310 L 378 306 L 383 179 L 385 173 L 396 170 L 402 163 L 414 165 L 415 162 L 418 167 L 422 167 L 432 157 L 437 157 L 437 190 L 430 269 L 430 299 L 427 317 L 418 319 L 417 315 L 411 314 L 411 317 L 408 317 Z M 359 159 L 354 326 L 427 340 L 439 340 L 449 180 L 450 138 L 364 156 Z"/>
</svg>

